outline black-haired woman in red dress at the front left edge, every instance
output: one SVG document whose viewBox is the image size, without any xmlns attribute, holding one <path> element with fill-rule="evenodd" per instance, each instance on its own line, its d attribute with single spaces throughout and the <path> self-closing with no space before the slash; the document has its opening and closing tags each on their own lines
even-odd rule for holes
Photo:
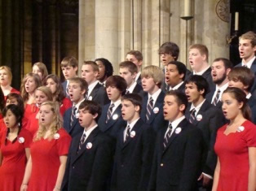
<svg viewBox="0 0 256 191">
<path fill-rule="evenodd" d="M 18 191 L 30 155 L 32 135 L 26 129 L 21 128 L 22 107 L 11 104 L 3 111 L 3 115 L 7 130 L 6 136 L 1 138 L 0 190 Z"/>
</svg>

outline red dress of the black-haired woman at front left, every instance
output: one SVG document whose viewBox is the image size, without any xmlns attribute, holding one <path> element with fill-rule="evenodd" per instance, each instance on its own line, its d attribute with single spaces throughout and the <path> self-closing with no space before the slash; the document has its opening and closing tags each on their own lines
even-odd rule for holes
<svg viewBox="0 0 256 191">
<path fill-rule="evenodd" d="M 5 145 L 5 139 L 5 136 L 1 139 L 3 159 L 0 167 L 0 190 L 18 191 L 20 190 L 27 162 L 25 148 L 30 147 L 32 135 L 22 128 L 15 142 L 7 140 Z"/>
</svg>

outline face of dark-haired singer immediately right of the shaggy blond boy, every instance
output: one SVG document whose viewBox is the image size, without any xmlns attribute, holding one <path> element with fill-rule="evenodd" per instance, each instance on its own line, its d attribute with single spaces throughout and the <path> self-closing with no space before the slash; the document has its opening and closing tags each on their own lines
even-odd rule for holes
<svg viewBox="0 0 256 191">
<path fill-rule="evenodd" d="M 174 64 L 168 64 L 166 67 L 166 83 L 170 85 L 170 87 L 174 87 L 175 85 L 179 85 L 183 80 L 184 74 L 179 74 L 179 71 Z"/>
</svg>

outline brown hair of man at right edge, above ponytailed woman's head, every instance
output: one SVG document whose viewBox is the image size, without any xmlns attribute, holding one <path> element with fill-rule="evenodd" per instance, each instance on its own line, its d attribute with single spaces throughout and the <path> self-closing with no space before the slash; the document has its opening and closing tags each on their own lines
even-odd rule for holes
<svg viewBox="0 0 256 191">
<path fill-rule="evenodd" d="M 228 80 L 240 80 L 243 85 L 248 86 L 248 91 L 254 85 L 254 72 L 248 67 L 233 67 L 227 78 Z"/>
</svg>

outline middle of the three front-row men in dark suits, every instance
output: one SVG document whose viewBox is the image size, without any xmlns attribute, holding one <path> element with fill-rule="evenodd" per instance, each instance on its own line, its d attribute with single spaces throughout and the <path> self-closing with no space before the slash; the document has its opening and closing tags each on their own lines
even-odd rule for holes
<svg viewBox="0 0 256 191">
<path fill-rule="evenodd" d="M 139 118 L 142 98 L 138 94 L 124 95 L 121 105 L 126 125 L 118 132 L 111 190 L 147 190 L 155 132 Z"/>
</svg>

